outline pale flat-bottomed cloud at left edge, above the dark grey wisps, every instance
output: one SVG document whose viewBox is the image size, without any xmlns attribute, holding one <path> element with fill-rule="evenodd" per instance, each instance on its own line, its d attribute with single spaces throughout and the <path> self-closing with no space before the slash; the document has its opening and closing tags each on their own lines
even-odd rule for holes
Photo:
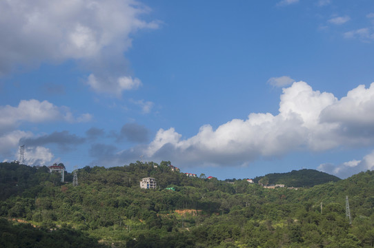
<svg viewBox="0 0 374 248">
<path fill-rule="evenodd" d="M 48 121 L 85 122 L 90 121 L 90 114 L 83 114 L 75 118 L 68 107 L 58 107 L 48 101 L 35 99 L 22 100 L 17 107 L 0 106 L 1 130 L 14 128 L 21 122 L 43 123 Z"/>
</svg>

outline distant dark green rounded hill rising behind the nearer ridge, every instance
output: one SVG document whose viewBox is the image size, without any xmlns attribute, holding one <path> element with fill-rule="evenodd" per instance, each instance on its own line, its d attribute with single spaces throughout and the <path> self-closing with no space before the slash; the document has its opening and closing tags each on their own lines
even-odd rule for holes
<svg viewBox="0 0 374 248">
<path fill-rule="evenodd" d="M 269 184 L 283 184 L 287 187 L 313 187 L 328 182 L 337 182 L 340 180 L 337 176 L 319 172 L 315 169 L 300 169 L 298 171 L 286 173 L 271 173 L 265 176 L 254 178 L 255 183 L 259 180 L 266 180 Z"/>
</svg>

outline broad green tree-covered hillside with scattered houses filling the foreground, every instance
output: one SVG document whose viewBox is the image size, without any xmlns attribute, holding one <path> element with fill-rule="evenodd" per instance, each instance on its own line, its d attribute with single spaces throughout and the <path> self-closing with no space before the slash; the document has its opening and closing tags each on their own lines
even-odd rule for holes
<svg viewBox="0 0 374 248">
<path fill-rule="evenodd" d="M 54 247 L 76 247 L 79 238 L 80 247 L 374 245 L 374 172 L 294 190 L 190 178 L 169 162 L 155 165 L 84 167 L 73 187 L 71 174 L 61 183 L 46 168 L 0 163 L 0 247 L 48 247 L 55 238 Z M 144 177 L 158 189 L 140 189 Z"/>
</svg>

